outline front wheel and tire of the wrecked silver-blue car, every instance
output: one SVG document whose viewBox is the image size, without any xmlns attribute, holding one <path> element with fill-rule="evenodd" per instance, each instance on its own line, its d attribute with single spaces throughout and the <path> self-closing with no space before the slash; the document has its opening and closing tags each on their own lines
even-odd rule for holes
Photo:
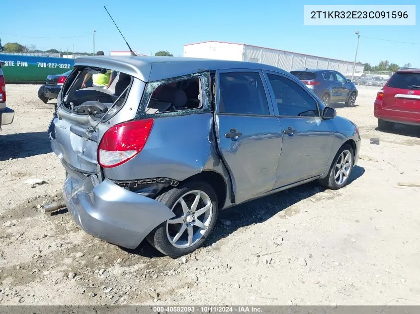
<svg viewBox="0 0 420 314">
<path fill-rule="evenodd" d="M 347 155 L 349 155 L 347 157 Z M 348 158 L 348 159 L 347 159 Z M 351 158 L 351 159 L 350 159 Z M 346 185 L 354 165 L 354 151 L 349 144 L 338 149 L 327 177 L 319 179 L 319 183 L 330 189 L 339 189 Z M 343 172 L 343 170 L 345 172 Z"/>
</svg>

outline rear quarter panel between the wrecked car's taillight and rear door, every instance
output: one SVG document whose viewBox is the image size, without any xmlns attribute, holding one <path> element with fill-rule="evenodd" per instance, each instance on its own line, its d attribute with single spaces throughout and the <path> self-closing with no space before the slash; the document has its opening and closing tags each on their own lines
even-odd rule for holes
<svg viewBox="0 0 420 314">
<path fill-rule="evenodd" d="M 104 168 L 106 178 L 123 181 L 165 177 L 183 181 L 204 169 L 224 176 L 214 151 L 212 113 L 168 116 L 154 121 L 143 150 L 120 166 Z"/>
</svg>

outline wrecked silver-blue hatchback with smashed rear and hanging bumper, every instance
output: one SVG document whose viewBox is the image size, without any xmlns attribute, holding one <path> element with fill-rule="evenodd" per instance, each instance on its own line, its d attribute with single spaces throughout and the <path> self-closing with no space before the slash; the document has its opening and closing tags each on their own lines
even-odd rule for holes
<svg viewBox="0 0 420 314">
<path fill-rule="evenodd" d="M 81 88 L 114 71 L 109 88 Z M 80 57 L 48 128 L 78 225 L 177 257 L 209 237 L 218 211 L 313 180 L 342 188 L 356 125 L 277 67 L 173 57 Z"/>
</svg>

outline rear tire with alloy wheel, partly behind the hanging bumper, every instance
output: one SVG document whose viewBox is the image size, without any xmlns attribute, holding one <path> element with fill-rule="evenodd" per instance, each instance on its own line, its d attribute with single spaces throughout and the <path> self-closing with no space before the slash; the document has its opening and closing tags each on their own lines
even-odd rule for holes
<svg viewBox="0 0 420 314">
<path fill-rule="evenodd" d="M 200 197 L 198 201 L 196 201 L 197 195 Z M 219 209 L 214 189 L 206 182 L 191 181 L 165 191 L 156 197 L 156 200 L 167 205 L 175 213 L 175 217 L 152 230 L 146 237 L 147 241 L 157 250 L 173 258 L 201 247 L 211 234 L 217 220 Z M 197 205 L 194 209 L 195 202 Z M 205 209 L 207 207 L 208 209 Z M 201 214 L 194 215 L 200 210 Z M 196 225 L 198 223 L 200 226 Z"/>
</svg>

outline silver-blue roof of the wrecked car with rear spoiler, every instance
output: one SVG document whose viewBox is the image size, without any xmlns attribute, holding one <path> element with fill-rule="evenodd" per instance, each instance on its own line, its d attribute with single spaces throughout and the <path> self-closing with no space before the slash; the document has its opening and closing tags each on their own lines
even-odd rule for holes
<svg viewBox="0 0 420 314">
<path fill-rule="evenodd" d="M 269 70 L 286 75 L 286 71 L 267 64 L 196 59 L 183 57 L 139 57 L 139 56 L 92 56 L 78 57 L 75 66 L 87 65 L 110 68 L 131 76 L 137 77 L 144 82 L 177 77 L 201 71 L 220 69 L 258 69 Z"/>
</svg>

